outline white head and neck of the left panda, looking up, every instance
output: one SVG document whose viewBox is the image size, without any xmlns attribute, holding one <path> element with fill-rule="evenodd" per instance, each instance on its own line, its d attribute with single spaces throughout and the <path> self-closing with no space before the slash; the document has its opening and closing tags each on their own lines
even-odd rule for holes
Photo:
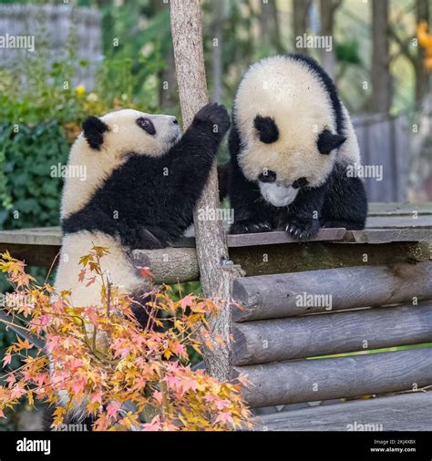
<svg viewBox="0 0 432 461">
<path fill-rule="evenodd" d="M 177 118 L 121 109 L 89 117 L 70 151 L 70 170 L 85 170 L 86 178 L 67 177 L 61 217 L 82 209 L 103 181 L 131 154 L 161 157 L 180 139 Z"/>
</svg>

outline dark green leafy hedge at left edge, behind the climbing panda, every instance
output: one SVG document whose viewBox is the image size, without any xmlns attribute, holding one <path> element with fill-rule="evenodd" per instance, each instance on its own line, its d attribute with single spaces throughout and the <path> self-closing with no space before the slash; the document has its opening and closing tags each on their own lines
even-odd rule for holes
<svg viewBox="0 0 432 461">
<path fill-rule="evenodd" d="M 0 125 L 5 186 L 0 227 L 21 229 L 58 224 L 62 182 L 50 177 L 51 166 L 67 161 L 69 149 L 64 128 L 57 120 L 33 127 Z"/>
</svg>

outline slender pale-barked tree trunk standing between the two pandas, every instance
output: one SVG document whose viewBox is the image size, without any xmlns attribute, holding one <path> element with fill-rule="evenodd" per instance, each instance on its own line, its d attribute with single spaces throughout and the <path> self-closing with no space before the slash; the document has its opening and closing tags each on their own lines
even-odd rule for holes
<svg viewBox="0 0 432 461">
<path fill-rule="evenodd" d="M 171 31 L 174 44 L 180 106 L 184 128 L 195 113 L 208 102 L 204 53 L 202 49 L 201 10 L 199 0 L 171 0 Z M 211 335 L 221 335 L 224 345 L 215 342 L 214 347 L 203 349 L 208 372 L 221 380 L 230 377 L 231 371 L 231 288 L 232 281 L 240 275 L 229 261 L 228 247 L 221 220 L 199 220 L 198 210 L 218 209 L 219 191 L 216 164 L 211 169 L 209 181 L 197 203 L 194 225 L 201 286 L 204 296 L 214 301 L 224 300 L 219 315 L 209 319 Z"/>
</svg>

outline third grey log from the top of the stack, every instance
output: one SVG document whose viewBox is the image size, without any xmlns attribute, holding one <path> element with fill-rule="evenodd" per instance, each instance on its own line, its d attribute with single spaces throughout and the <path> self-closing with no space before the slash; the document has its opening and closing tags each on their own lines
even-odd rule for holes
<svg viewBox="0 0 432 461">
<path fill-rule="evenodd" d="M 432 384 L 432 348 L 233 367 L 238 374 L 252 408 L 389 394 Z"/>
</svg>

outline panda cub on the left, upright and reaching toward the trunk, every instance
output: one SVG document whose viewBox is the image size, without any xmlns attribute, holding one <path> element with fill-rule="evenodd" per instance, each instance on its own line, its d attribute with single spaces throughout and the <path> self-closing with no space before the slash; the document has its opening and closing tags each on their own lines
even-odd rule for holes
<svg viewBox="0 0 432 461">
<path fill-rule="evenodd" d="M 86 177 L 64 185 L 56 292 L 70 290 L 75 306 L 100 303 L 100 289 L 77 278 L 79 258 L 93 245 L 108 247 L 101 264 L 114 284 L 137 297 L 146 292 L 129 252 L 166 247 L 190 227 L 229 127 L 226 109 L 216 104 L 201 108 L 181 137 L 168 115 L 122 109 L 87 118 L 68 162 L 69 171 L 84 166 Z"/>
</svg>

